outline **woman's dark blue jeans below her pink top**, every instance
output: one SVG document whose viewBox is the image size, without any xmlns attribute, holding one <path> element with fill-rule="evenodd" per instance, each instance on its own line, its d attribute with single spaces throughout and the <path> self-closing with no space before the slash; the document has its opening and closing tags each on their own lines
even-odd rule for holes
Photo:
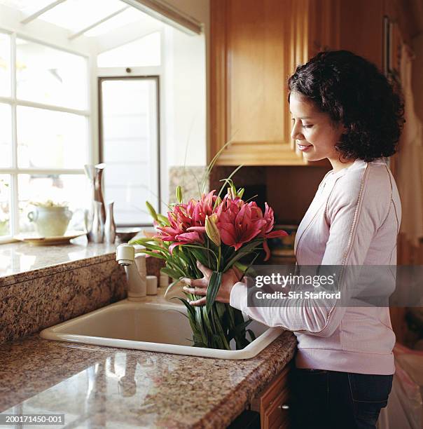
<svg viewBox="0 0 423 429">
<path fill-rule="evenodd" d="M 375 429 L 387 406 L 391 375 L 293 369 L 291 410 L 296 429 Z"/>
</svg>

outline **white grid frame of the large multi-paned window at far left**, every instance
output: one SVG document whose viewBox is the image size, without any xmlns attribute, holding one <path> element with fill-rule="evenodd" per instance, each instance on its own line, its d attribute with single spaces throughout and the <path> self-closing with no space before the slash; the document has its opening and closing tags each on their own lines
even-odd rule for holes
<svg viewBox="0 0 423 429">
<path fill-rule="evenodd" d="M 17 107 L 34 107 L 36 109 L 44 109 L 48 111 L 60 111 L 63 113 L 76 114 L 79 116 L 84 116 L 86 120 L 87 127 L 87 141 L 88 145 L 85 148 L 85 156 L 88 163 L 93 163 L 95 156 L 95 148 L 93 147 L 93 141 L 95 140 L 95 131 L 93 129 L 92 123 L 92 111 L 93 100 L 96 99 L 95 95 L 92 94 L 92 56 L 87 53 L 82 53 L 78 50 L 67 48 L 61 46 L 60 44 L 50 43 L 39 37 L 34 37 L 32 35 L 25 34 L 23 32 L 15 31 L 13 29 L 6 29 L 0 27 L 0 33 L 6 34 L 11 38 L 10 46 L 10 79 L 11 79 L 11 94 L 9 97 L 0 96 L 0 103 L 8 104 L 11 106 L 11 118 L 12 118 L 12 158 L 11 158 L 11 167 L 0 168 L 0 175 L 9 175 L 10 177 L 10 191 L 9 191 L 9 231 L 8 236 L 0 236 L 1 243 L 11 243 L 15 241 L 14 236 L 19 233 L 19 196 L 18 196 L 18 176 L 20 174 L 40 174 L 40 175 L 84 175 L 85 172 L 83 168 L 20 168 L 18 166 L 18 123 L 17 123 Z M 70 109 L 67 107 L 60 107 L 56 105 L 44 104 L 40 102 L 31 102 L 27 100 L 19 100 L 16 95 L 16 39 L 24 39 L 31 41 L 33 43 L 39 43 L 40 45 L 47 46 L 48 48 L 54 48 L 57 50 L 62 50 L 63 52 L 71 53 L 74 55 L 79 55 L 85 58 L 86 67 L 87 67 L 87 109 Z"/>
</svg>

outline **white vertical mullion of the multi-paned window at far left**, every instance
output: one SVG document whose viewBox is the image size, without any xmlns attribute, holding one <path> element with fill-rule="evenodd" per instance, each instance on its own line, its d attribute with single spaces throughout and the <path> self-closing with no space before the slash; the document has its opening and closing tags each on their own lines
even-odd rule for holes
<svg viewBox="0 0 423 429">
<path fill-rule="evenodd" d="M 16 33 L 11 34 L 11 79 L 12 100 L 16 100 Z M 16 116 L 16 103 L 11 105 L 12 109 L 12 168 L 18 169 L 18 120 Z M 11 174 L 11 235 L 19 233 L 19 196 L 18 196 L 18 174 Z"/>
</svg>

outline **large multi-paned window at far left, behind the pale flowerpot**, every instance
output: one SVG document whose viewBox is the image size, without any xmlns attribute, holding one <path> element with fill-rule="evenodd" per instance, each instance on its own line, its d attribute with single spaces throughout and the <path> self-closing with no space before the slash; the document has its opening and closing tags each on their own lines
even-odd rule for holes
<svg viewBox="0 0 423 429">
<path fill-rule="evenodd" d="M 83 206 L 88 79 L 86 57 L 0 32 L 0 240 L 34 230 L 32 200 Z"/>
</svg>

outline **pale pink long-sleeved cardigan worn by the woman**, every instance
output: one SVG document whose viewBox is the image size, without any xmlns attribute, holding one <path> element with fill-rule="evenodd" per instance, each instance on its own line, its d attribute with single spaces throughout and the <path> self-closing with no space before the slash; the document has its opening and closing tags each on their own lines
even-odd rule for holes
<svg viewBox="0 0 423 429">
<path fill-rule="evenodd" d="M 300 265 L 396 265 L 401 201 L 382 158 L 331 170 L 298 227 Z M 389 308 L 248 307 L 237 282 L 230 305 L 271 327 L 293 331 L 296 366 L 360 374 L 394 374 L 395 334 Z"/>
</svg>

